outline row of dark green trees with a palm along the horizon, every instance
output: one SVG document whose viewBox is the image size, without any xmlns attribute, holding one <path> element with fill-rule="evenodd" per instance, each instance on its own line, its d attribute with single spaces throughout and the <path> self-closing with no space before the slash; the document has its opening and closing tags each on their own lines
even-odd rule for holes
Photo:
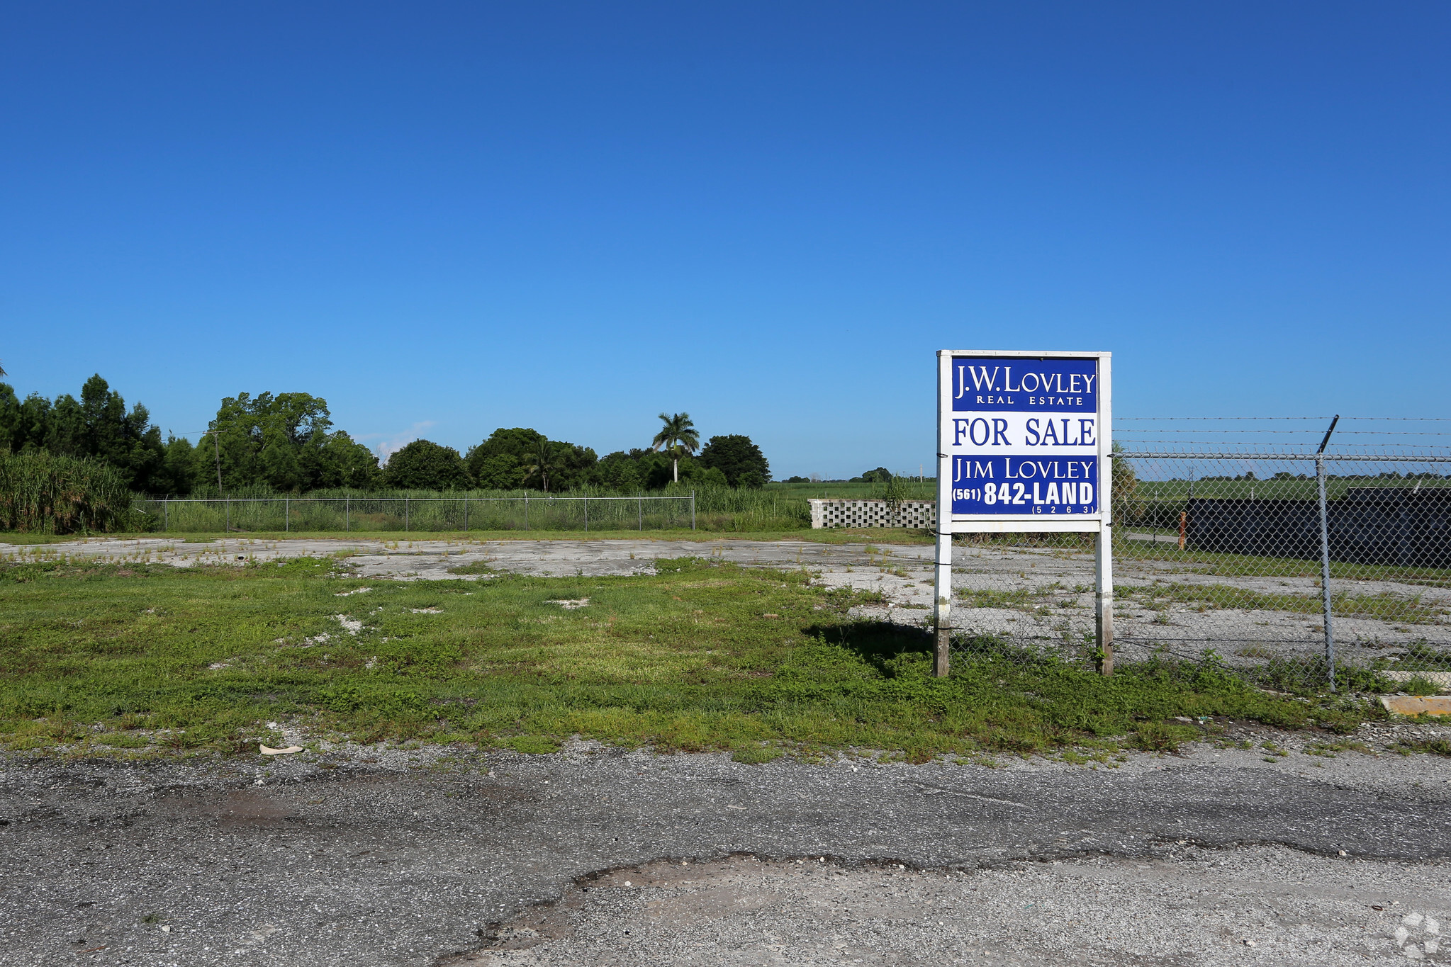
<svg viewBox="0 0 1451 967">
<path fill-rule="evenodd" d="M 0 454 L 90 458 L 113 467 L 126 486 L 152 494 L 279 493 L 351 489 L 543 490 L 583 486 L 657 490 L 762 487 L 770 465 L 749 436 L 711 436 L 705 445 L 688 413 L 660 415 L 649 447 L 598 457 L 589 447 L 548 439 L 535 429 L 499 428 L 460 454 L 415 439 L 386 464 L 364 444 L 334 428 L 328 403 L 308 393 L 238 393 L 222 400 L 196 444 L 168 435 L 141 403 L 125 399 L 99 374 L 80 399 L 23 400 L 0 383 Z"/>
</svg>

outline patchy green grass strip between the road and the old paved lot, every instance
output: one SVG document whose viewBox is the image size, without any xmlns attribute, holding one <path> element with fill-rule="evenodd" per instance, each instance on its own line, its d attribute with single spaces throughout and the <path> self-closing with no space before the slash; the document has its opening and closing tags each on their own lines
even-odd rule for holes
<svg viewBox="0 0 1451 967">
<path fill-rule="evenodd" d="M 366 583 L 318 558 L 7 564 L 0 744 L 255 752 L 280 742 L 266 722 L 292 721 L 360 742 L 548 752 L 582 735 L 740 761 L 852 748 L 923 761 L 1103 751 L 1125 735 L 1164 750 L 1199 734 L 1165 725 L 1174 716 L 1344 732 L 1383 715 L 1267 694 L 1213 658 L 1104 678 L 978 641 L 932 678 L 927 635 L 853 619 L 856 600 L 804 571 L 695 558 L 657 576 Z"/>
</svg>

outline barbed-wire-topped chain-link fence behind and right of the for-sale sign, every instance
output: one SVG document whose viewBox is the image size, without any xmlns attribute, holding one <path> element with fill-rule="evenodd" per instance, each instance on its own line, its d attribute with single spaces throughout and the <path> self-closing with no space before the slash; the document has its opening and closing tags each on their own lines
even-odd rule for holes
<svg viewBox="0 0 1451 967">
<path fill-rule="evenodd" d="M 1451 692 L 1451 452 L 1172 442 L 1129 435 L 1114 454 L 1117 663 L 1210 660 L 1284 692 Z M 1093 541 L 959 536 L 955 651 L 1093 661 Z"/>
</svg>

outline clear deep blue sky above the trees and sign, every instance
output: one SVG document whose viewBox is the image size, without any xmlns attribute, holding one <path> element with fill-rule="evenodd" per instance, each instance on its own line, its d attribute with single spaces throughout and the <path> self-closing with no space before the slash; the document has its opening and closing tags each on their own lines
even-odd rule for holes
<svg viewBox="0 0 1451 967">
<path fill-rule="evenodd" d="M 0 362 L 374 447 L 660 410 L 932 460 L 939 348 L 1123 416 L 1451 416 L 1441 3 L 4 4 Z"/>
</svg>

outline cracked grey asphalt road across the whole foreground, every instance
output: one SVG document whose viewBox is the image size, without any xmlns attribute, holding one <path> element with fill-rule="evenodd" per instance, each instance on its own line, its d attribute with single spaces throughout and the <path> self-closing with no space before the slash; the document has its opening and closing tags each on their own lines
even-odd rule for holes
<svg viewBox="0 0 1451 967">
<path fill-rule="evenodd" d="M 1436 963 L 1451 922 L 1426 755 L 0 764 L 26 967 Z"/>
</svg>

